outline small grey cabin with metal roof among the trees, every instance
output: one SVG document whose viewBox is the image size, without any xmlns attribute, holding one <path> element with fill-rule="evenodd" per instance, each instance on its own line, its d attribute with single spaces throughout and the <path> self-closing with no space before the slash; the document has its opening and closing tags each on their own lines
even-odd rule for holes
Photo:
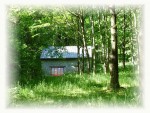
<svg viewBox="0 0 150 113">
<path fill-rule="evenodd" d="M 89 57 L 92 58 L 92 47 L 88 46 L 87 48 Z M 43 49 L 40 59 L 44 74 L 46 76 L 60 76 L 65 73 L 76 73 L 78 71 L 78 55 L 79 58 L 82 58 L 83 50 L 86 61 L 85 49 L 80 48 L 78 54 L 77 46 L 49 46 Z"/>
</svg>

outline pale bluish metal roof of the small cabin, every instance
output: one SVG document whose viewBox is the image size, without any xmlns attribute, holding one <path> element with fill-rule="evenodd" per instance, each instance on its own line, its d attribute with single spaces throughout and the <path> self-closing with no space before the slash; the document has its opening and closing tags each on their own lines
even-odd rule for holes
<svg viewBox="0 0 150 113">
<path fill-rule="evenodd" d="M 92 57 L 92 46 L 88 46 L 89 56 Z M 84 49 L 84 56 L 86 52 Z M 82 48 L 80 48 L 80 57 L 82 57 Z M 55 59 L 55 58 L 78 58 L 77 46 L 49 46 L 42 50 L 41 59 Z"/>
</svg>

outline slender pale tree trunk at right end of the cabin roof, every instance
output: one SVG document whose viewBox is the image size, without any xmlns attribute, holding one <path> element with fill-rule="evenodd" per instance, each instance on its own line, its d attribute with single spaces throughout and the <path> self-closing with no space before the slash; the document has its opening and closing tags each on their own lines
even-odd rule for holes
<svg viewBox="0 0 150 113">
<path fill-rule="evenodd" d="M 94 37 L 94 19 L 93 15 L 91 16 L 91 29 L 92 29 L 92 46 L 93 46 L 93 51 L 92 51 L 92 64 L 93 64 L 93 75 L 95 75 L 95 37 Z"/>
</svg>

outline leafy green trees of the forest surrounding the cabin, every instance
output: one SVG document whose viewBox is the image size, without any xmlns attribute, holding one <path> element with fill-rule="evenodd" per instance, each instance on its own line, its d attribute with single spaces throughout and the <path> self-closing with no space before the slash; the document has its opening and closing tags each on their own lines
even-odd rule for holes
<svg viewBox="0 0 150 113">
<path fill-rule="evenodd" d="M 90 7 L 90 9 L 89 9 Z M 40 65 L 41 50 L 47 46 L 78 45 L 88 55 L 88 45 L 93 46 L 92 61 L 88 57 L 88 70 L 84 69 L 84 56 L 78 61 L 79 73 L 109 72 L 109 63 L 115 59 L 115 67 L 110 70 L 112 76 L 117 75 L 117 62 L 122 62 L 125 68 L 127 63 L 135 67 L 139 65 L 139 7 L 117 7 L 113 14 L 109 7 L 79 6 L 75 8 L 21 8 L 10 7 L 8 21 L 12 31 L 10 47 L 18 53 L 18 59 L 10 58 L 13 65 L 19 69 L 19 80 L 32 80 L 42 75 Z M 114 17 L 112 17 L 114 15 Z M 115 54 L 110 56 L 114 46 L 111 34 L 113 25 L 111 19 L 116 19 L 118 45 L 115 45 Z M 114 24 L 115 24 L 114 23 Z M 115 26 L 115 27 L 116 27 Z M 110 48 L 111 47 L 111 48 Z M 118 48 L 118 49 L 117 49 Z M 117 53 L 118 51 L 118 53 Z M 84 51 L 83 51 L 84 52 Z M 115 71 L 115 72 L 112 72 Z M 118 80 L 118 77 L 117 77 Z M 116 83 L 117 82 L 117 83 Z M 117 84 L 118 81 L 112 84 Z"/>
</svg>

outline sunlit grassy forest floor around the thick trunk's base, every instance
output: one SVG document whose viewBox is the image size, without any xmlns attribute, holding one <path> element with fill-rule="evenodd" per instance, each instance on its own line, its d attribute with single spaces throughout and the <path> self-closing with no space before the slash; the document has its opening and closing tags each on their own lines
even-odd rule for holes
<svg viewBox="0 0 150 113">
<path fill-rule="evenodd" d="M 49 76 L 25 85 L 19 83 L 9 89 L 10 107 L 22 106 L 122 106 L 142 105 L 139 75 L 128 66 L 119 69 L 121 88 L 118 91 L 108 89 L 109 74 Z"/>
</svg>

